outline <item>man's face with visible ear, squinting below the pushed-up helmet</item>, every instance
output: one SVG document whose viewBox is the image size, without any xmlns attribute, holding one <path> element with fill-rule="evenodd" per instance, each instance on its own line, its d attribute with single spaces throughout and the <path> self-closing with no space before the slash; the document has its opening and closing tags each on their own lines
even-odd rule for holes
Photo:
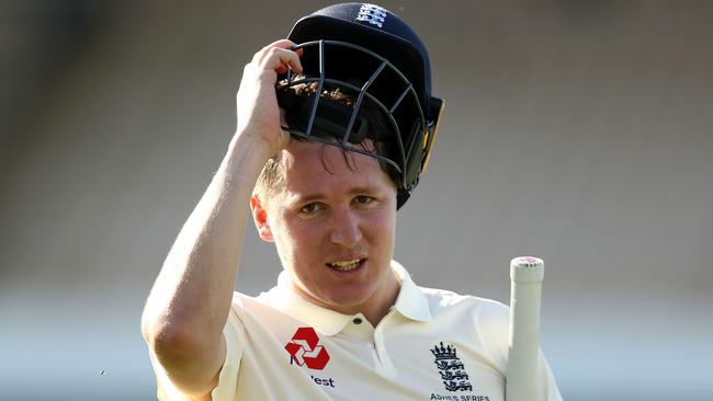
<svg viewBox="0 0 713 401">
<path fill-rule="evenodd" d="M 396 188 L 376 159 L 292 140 L 281 163 L 284 185 L 253 213 L 296 291 L 342 313 L 391 306 Z"/>
</svg>

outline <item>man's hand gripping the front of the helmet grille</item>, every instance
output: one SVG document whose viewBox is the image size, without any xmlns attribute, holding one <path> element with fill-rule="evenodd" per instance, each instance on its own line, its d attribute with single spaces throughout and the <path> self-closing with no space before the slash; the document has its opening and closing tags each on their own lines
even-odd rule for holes
<svg viewBox="0 0 713 401">
<path fill-rule="evenodd" d="M 269 156 L 276 154 L 290 142 L 290 134 L 280 127 L 281 116 L 275 95 L 278 75 L 287 68 L 302 72 L 299 54 L 290 48 L 288 39 L 274 42 L 256 53 L 245 66 L 237 94 L 237 136 L 247 135 L 263 141 Z"/>
</svg>

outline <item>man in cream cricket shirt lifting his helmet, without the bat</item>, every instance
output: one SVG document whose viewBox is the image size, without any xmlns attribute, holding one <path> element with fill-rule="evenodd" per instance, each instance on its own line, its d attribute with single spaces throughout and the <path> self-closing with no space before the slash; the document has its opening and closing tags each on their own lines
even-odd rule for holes
<svg viewBox="0 0 713 401">
<path fill-rule="evenodd" d="M 507 308 L 392 261 L 442 108 L 410 27 L 373 4 L 319 10 L 254 55 L 237 106 L 144 311 L 159 398 L 503 400 Z M 234 294 L 250 215 L 284 268 L 259 297 Z M 533 400 L 561 399 L 544 358 L 540 383 Z"/>
</svg>

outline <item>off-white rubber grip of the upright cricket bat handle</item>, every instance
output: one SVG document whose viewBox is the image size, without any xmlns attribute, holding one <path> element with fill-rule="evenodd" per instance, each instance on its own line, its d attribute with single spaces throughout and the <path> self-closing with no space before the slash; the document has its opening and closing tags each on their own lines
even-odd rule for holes
<svg viewBox="0 0 713 401">
<path fill-rule="evenodd" d="M 544 263 L 541 259 L 523 256 L 510 262 L 510 351 L 506 401 L 535 401 L 540 397 L 537 358 L 543 278 Z"/>
</svg>

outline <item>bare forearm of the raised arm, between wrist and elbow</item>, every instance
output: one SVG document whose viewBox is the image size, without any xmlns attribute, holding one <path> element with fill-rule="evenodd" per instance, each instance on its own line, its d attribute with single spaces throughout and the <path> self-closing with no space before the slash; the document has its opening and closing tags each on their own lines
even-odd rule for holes
<svg viewBox="0 0 713 401">
<path fill-rule="evenodd" d="M 235 136 L 154 284 L 142 325 L 159 358 L 165 351 L 170 357 L 205 366 L 200 359 L 215 358 L 220 347 L 250 195 L 269 156 L 258 144 L 249 135 Z"/>
</svg>

